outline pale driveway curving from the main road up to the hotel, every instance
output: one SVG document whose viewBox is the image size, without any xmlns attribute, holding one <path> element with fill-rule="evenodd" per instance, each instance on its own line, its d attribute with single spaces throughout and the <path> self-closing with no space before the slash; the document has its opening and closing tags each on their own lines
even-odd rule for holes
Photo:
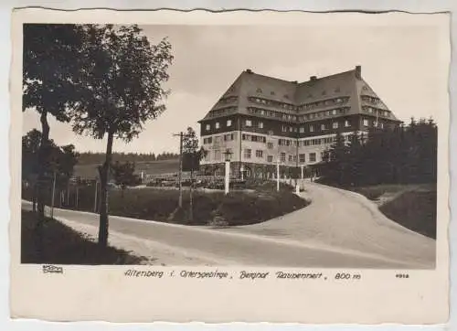
<svg viewBox="0 0 457 331">
<path fill-rule="evenodd" d="M 408 230 L 382 214 L 367 198 L 354 192 L 305 183 L 306 208 L 263 223 L 227 229 L 316 248 L 364 252 L 434 268 L 435 240 Z"/>
</svg>

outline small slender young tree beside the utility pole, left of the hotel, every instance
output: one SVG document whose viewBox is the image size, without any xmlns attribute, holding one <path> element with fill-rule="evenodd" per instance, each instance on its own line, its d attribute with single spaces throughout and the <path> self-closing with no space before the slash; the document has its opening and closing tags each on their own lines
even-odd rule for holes
<svg viewBox="0 0 457 331">
<path fill-rule="evenodd" d="M 189 220 L 194 220 L 194 172 L 198 170 L 200 161 L 207 155 L 207 151 L 203 146 L 198 149 L 198 138 L 194 129 L 190 126 L 187 132 L 183 135 L 183 169 L 190 171 L 190 187 L 189 187 Z"/>
</svg>

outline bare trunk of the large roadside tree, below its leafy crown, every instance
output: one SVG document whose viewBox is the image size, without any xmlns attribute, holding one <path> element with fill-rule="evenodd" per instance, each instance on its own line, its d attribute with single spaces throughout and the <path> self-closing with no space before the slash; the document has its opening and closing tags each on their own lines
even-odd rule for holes
<svg viewBox="0 0 457 331">
<path fill-rule="evenodd" d="M 108 133 L 108 143 L 106 144 L 105 163 L 99 167 L 100 173 L 100 226 L 99 226 L 99 245 L 108 246 L 108 173 L 112 164 L 112 140 L 113 133 Z"/>
</svg>

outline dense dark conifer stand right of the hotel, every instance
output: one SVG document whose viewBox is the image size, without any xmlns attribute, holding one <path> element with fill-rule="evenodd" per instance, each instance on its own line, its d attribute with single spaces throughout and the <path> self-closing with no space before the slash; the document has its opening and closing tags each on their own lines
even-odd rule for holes
<svg viewBox="0 0 457 331">
<path fill-rule="evenodd" d="M 411 119 L 394 128 L 371 128 L 345 141 L 337 133 L 324 152 L 320 181 L 339 187 L 436 183 L 438 127 Z"/>
</svg>

